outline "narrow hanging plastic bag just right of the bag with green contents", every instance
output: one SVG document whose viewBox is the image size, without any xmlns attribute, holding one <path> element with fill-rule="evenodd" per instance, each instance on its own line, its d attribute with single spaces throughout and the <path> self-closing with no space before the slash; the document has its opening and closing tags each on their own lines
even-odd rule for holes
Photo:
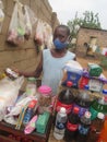
<svg viewBox="0 0 107 142">
<path fill-rule="evenodd" d="M 25 39 L 28 39 L 32 34 L 32 27 L 36 23 L 37 19 L 34 14 L 34 12 L 29 9 L 29 7 L 24 5 L 25 11 Z"/>
</svg>

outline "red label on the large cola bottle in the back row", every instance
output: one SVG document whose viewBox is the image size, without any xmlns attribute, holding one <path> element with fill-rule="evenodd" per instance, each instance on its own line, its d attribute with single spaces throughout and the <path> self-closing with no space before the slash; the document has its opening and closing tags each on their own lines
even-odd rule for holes
<svg viewBox="0 0 107 142">
<path fill-rule="evenodd" d="M 58 100 L 58 102 L 57 102 L 57 105 L 56 105 L 57 111 L 59 111 L 61 107 L 64 107 L 66 110 L 67 110 L 67 114 L 69 114 L 69 113 L 71 111 L 73 105 L 72 105 L 72 104 L 70 104 L 70 105 L 62 104 L 62 103 L 60 103 L 60 102 Z"/>
</svg>

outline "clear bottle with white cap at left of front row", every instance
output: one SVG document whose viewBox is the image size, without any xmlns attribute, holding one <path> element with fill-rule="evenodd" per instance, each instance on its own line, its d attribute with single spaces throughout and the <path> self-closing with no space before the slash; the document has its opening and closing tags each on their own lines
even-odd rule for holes
<svg viewBox="0 0 107 142">
<path fill-rule="evenodd" d="M 66 108 L 61 107 L 60 111 L 58 111 L 58 114 L 57 114 L 56 125 L 55 125 L 55 130 L 54 130 L 54 137 L 57 140 L 63 139 L 64 130 L 66 130 L 66 122 L 67 122 Z"/>
</svg>

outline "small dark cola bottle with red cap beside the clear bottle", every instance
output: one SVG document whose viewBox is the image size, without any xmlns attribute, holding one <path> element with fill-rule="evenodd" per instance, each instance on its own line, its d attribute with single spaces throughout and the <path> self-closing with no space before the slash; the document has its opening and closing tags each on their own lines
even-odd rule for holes
<svg viewBox="0 0 107 142">
<path fill-rule="evenodd" d="M 78 128 L 79 128 L 79 122 L 80 122 L 79 108 L 74 107 L 72 113 L 69 114 L 68 116 L 67 129 L 66 129 L 66 134 L 64 134 L 64 140 L 67 142 L 75 139 Z"/>
</svg>

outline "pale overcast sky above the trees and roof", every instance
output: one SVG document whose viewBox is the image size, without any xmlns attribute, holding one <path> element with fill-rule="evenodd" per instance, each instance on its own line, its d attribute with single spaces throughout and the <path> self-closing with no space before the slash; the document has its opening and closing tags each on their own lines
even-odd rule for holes
<svg viewBox="0 0 107 142">
<path fill-rule="evenodd" d="M 107 0 L 48 0 L 52 11 L 61 24 L 72 21 L 78 12 L 78 17 L 83 17 L 85 11 L 98 13 L 103 29 L 107 29 Z"/>
</svg>

